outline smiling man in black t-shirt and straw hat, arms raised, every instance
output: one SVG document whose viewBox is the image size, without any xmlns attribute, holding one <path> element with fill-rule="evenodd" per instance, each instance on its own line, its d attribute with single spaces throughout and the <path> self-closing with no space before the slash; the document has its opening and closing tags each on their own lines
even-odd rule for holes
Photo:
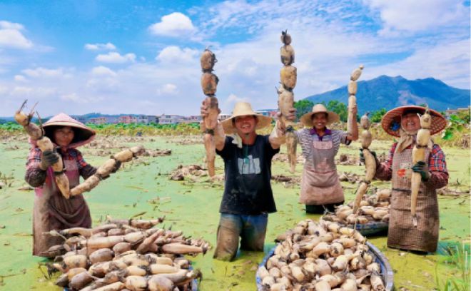
<svg viewBox="0 0 471 291">
<path fill-rule="evenodd" d="M 207 114 L 203 103 L 201 116 Z M 294 112 L 288 116 L 290 120 L 294 117 Z M 255 130 L 270 126 L 271 120 L 255 113 L 250 103 L 239 102 L 231 118 L 218 123 L 214 130 L 216 153 L 224 160 L 226 180 L 214 252 L 219 260 L 236 257 L 239 237 L 240 249 L 263 251 L 268 213 L 276 211 L 270 185 L 271 159 L 280 151 L 285 131 L 278 122 L 270 136 L 260 136 Z"/>
</svg>

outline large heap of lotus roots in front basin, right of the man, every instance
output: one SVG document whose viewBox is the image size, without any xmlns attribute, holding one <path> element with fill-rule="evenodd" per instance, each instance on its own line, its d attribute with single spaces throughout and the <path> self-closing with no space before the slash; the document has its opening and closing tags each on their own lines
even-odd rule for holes
<svg viewBox="0 0 471 291">
<path fill-rule="evenodd" d="M 265 290 L 385 290 L 380 265 L 356 230 L 303 220 L 278 240 L 257 271 Z"/>
</svg>

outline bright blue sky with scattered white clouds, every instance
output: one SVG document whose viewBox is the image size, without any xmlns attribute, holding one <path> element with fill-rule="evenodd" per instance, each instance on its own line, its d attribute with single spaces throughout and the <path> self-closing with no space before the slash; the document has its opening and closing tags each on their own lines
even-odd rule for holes
<svg viewBox="0 0 471 291">
<path fill-rule="evenodd" d="M 218 62 L 223 113 L 276 108 L 280 32 L 295 100 L 380 75 L 470 88 L 470 1 L 0 1 L 0 116 L 199 114 L 199 58 Z M 358 105 L 359 108 L 361 104 Z"/>
</svg>

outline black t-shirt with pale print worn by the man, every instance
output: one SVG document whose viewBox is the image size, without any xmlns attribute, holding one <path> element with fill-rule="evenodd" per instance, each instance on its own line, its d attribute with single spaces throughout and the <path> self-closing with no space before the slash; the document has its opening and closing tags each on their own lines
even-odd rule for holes
<svg viewBox="0 0 471 291">
<path fill-rule="evenodd" d="M 271 190 L 271 159 L 279 149 L 273 149 L 268 136 L 257 135 L 252 146 L 238 148 L 226 137 L 223 150 L 216 150 L 224 160 L 226 185 L 221 213 L 259 215 L 276 212 Z"/>
</svg>

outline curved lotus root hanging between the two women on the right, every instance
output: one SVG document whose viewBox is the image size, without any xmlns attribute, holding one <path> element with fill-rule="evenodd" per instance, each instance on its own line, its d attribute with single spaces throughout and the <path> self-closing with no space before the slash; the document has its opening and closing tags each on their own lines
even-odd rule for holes
<svg viewBox="0 0 471 291">
<path fill-rule="evenodd" d="M 365 195 L 366 190 L 368 190 L 368 186 L 371 183 L 371 180 L 375 177 L 376 173 L 376 159 L 373 154 L 368 149 L 371 145 L 372 138 L 370 133 L 370 119 L 368 118 L 368 112 L 365 113 L 360 118 L 360 126 L 363 128 L 361 133 L 361 147 L 363 157 L 365 158 L 365 178 L 360 181 L 360 185 L 358 185 L 357 193 L 355 195 L 355 203 L 353 205 L 353 213 L 357 214 L 358 208 L 360 207 L 360 201 Z"/>
</svg>

